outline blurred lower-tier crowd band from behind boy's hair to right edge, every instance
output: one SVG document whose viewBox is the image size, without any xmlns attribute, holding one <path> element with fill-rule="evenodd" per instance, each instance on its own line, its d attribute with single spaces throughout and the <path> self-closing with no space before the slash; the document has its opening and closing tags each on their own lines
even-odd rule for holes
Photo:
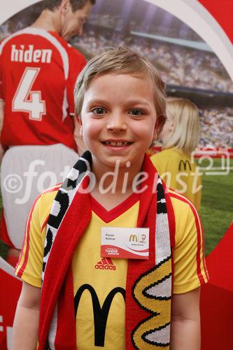
<svg viewBox="0 0 233 350">
<path fill-rule="evenodd" d="M 89 56 L 113 45 L 129 45 L 136 52 L 143 52 L 160 69 L 167 84 L 199 87 L 203 90 L 233 92 L 233 83 L 227 77 L 218 57 L 209 52 L 190 50 L 178 45 L 160 42 L 150 43 L 143 38 L 122 38 L 121 34 L 106 38 L 96 31 L 85 33 L 73 42 Z"/>
</svg>

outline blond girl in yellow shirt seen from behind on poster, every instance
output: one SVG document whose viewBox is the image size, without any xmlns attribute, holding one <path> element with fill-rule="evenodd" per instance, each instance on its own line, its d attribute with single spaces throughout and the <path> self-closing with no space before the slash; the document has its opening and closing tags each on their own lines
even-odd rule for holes
<svg viewBox="0 0 233 350">
<path fill-rule="evenodd" d="M 160 139 L 162 152 L 151 157 L 157 172 L 178 193 L 201 207 L 202 177 L 193 160 L 199 141 L 199 113 L 188 99 L 169 97 L 166 102 L 167 120 Z"/>
</svg>

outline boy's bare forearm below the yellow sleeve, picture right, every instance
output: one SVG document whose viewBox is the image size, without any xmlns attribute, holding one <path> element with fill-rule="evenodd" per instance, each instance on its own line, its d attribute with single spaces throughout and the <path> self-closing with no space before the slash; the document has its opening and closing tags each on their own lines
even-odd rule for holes
<svg viewBox="0 0 233 350">
<path fill-rule="evenodd" d="M 173 294 L 171 304 L 171 350 L 199 350 L 199 288 Z"/>
</svg>

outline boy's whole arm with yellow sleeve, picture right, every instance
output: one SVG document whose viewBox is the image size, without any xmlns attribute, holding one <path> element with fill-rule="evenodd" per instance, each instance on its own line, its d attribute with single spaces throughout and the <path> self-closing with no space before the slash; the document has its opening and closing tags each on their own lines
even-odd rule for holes
<svg viewBox="0 0 233 350">
<path fill-rule="evenodd" d="M 199 287 L 209 281 L 202 224 L 195 207 L 170 191 L 176 218 L 171 349 L 200 349 Z"/>
</svg>

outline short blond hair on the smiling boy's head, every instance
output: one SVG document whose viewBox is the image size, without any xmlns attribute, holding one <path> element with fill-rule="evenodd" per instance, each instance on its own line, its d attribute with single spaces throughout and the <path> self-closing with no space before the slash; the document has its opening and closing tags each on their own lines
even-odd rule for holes
<svg viewBox="0 0 233 350">
<path fill-rule="evenodd" d="M 129 48 L 111 48 L 92 58 L 79 74 L 74 90 L 76 115 L 81 116 L 85 92 L 94 77 L 104 74 L 147 75 L 153 81 L 153 94 L 157 113 L 157 130 L 160 132 L 166 120 L 165 84 L 155 66 L 146 58 Z"/>
</svg>

